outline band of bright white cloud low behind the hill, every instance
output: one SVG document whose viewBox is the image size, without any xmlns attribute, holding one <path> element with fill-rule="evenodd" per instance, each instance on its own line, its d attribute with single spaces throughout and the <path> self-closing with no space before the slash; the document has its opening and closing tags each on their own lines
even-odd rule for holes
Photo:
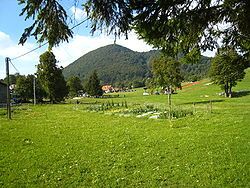
<svg viewBox="0 0 250 188">
<path fill-rule="evenodd" d="M 106 36 L 104 34 L 98 36 L 75 35 L 69 43 L 62 43 L 59 47 L 53 49 L 56 59 L 59 61 L 59 66 L 67 66 L 82 55 L 95 50 L 99 47 L 113 44 L 114 36 Z M 149 51 L 152 49 L 149 45 L 139 40 L 135 33 L 129 34 L 129 39 L 124 37 L 117 39 L 116 44 L 122 45 L 134 51 Z M 0 31 L 0 78 L 5 77 L 5 58 L 14 58 L 22 55 L 38 45 L 36 43 L 25 43 L 24 46 L 17 45 L 16 41 L 11 39 L 11 36 Z M 39 63 L 39 56 L 46 50 L 46 47 L 38 49 L 28 55 L 13 60 L 13 64 L 20 71 L 20 74 L 33 74 L 36 71 L 35 65 Z M 10 73 L 16 73 L 13 67 L 10 67 Z"/>
</svg>

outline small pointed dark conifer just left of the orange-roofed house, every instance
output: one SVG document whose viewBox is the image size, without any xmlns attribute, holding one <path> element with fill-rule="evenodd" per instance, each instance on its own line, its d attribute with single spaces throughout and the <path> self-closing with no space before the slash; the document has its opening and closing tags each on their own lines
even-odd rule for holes
<svg viewBox="0 0 250 188">
<path fill-rule="evenodd" d="M 93 74 L 90 75 L 85 85 L 85 90 L 90 96 L 101 96 L 103 94 L 100 80 L 97 76 L 96 71 L 94 71 Z"/>
</svg>

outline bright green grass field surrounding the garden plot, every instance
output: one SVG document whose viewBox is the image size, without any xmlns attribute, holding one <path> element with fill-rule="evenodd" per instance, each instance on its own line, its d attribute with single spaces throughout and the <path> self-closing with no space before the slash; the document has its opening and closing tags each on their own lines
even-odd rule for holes
<svg viewBox="0 0 250 188">
<path fill-rule="evenodd" d="M 11 121 L 1 110 L 0 186 L 250 187 L 247 72 L 235 98 L 219 96 L 208 80 L 178 91 L 174 105 L 195 102 L 196 112 L 172 121 L 89 112 L 87 104 L 23 105 Z M 164 107 L 167 97 L 138 89 L 112 100 Z"/>
</svg>

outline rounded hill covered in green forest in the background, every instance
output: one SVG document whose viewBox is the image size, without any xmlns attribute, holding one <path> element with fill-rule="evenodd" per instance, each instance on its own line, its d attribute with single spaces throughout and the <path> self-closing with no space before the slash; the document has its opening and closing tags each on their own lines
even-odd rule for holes
<svg viewBox="0 0 250 188">
<path fill-rule="evenodd" d="M 148 62 L 158 51 L 135 52 L 112 44 L 91 51 L 64 68 L 66 79 L 78 76 L 84 80 L 96 70 L 102 84 L 132 83 L 144 80 L 149 74 Z M 204 76 L 209 59 L 203 57 L 199 65 L 184 65 L 185 77 Z M 198 69 L 198 70 L 197 70 Z M 196 74 L 197 73 L 197 74 Z"/>
</svg>

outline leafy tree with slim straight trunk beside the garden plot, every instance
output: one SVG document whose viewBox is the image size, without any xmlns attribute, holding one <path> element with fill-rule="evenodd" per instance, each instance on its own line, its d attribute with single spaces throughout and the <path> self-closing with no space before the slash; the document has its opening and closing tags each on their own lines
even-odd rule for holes
<svg viewBox="0 0 250 188">
<path fill-rule="evenodd" d="M 152 73 L 155 83 L 168 92 L 168 104 L 171 106 L 173 88 L 181 88 L 183 77 L 180 71 L 180 62 L 172 57 L 162 55 L 152 61 Z"/>
</svg>

